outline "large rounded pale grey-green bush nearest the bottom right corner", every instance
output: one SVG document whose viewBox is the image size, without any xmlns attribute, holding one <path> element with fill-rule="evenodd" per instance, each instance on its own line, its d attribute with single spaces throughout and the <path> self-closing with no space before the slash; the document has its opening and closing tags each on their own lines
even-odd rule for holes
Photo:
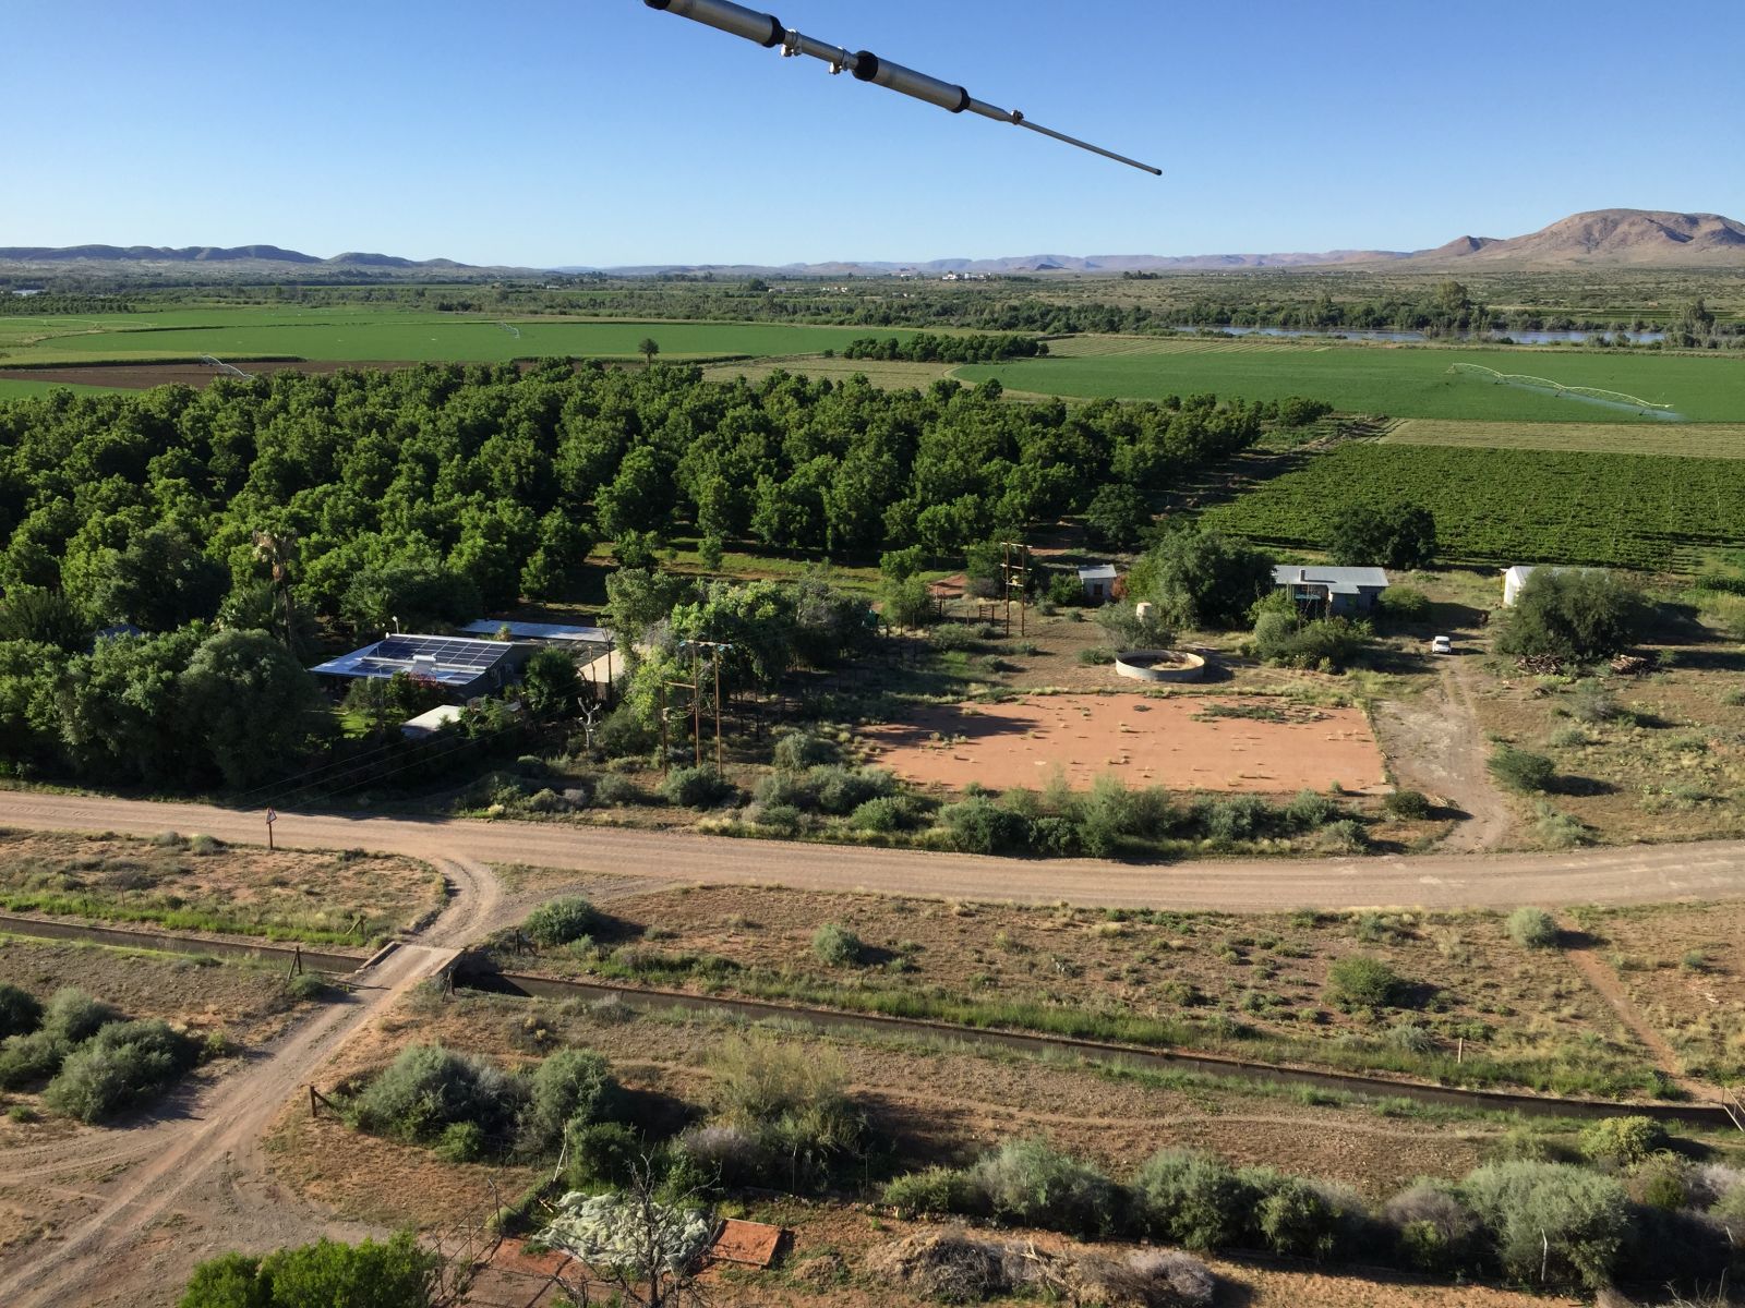
<svg viewBox="0 0 1745 1308">
<path fill-rule="evenodd" d="M 1490 1163 L 1459 1193 L 1490 1233 L 1504 1275 L 1546 1289 L 1611 1282 L 1630 1223 L 1628 1198 L 1611 1177 L 1567 1163 Z"/>
</svg>

